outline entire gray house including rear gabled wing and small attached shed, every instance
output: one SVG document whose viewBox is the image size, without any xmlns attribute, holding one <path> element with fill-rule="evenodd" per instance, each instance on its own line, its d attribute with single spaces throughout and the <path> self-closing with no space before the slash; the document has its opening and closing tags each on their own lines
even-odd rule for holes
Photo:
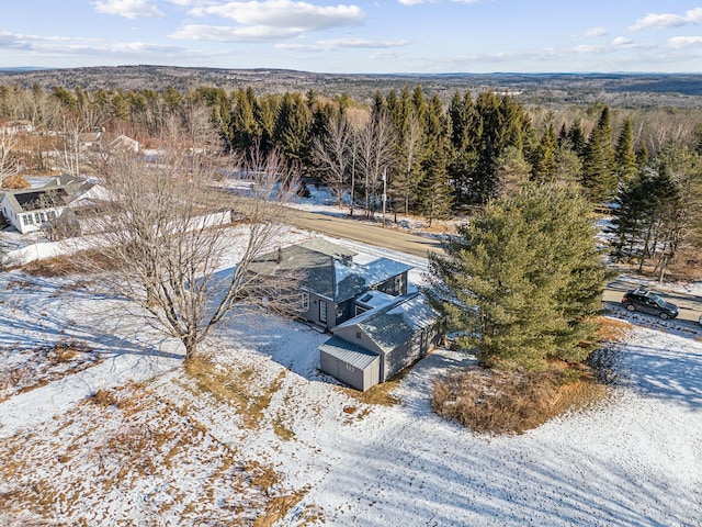
<svg viewBox="0 0 702 527">
<path fill-rule="evenodd" d="M 313 238 L 257 258 L 253 274 L 298 273 L 298 314 L 333 336 L 319 347 L 320 369 L 356 390 L 384 382 L 426 356 L 440 338 L 439 314 L 407 291 L 411 266 Z"/>
</svg>

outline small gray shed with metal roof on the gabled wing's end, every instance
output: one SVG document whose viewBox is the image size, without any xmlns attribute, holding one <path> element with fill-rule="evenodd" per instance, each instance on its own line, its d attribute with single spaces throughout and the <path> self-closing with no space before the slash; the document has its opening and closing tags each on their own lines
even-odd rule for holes
<svg viewBox="0 0 702 527">
<path fill-rule="evenodd" d="M 381 380 L 381 357 L 339 337 L 319 346 L 319 363 L 321 371 L 362 392 Z"/>
</svg>

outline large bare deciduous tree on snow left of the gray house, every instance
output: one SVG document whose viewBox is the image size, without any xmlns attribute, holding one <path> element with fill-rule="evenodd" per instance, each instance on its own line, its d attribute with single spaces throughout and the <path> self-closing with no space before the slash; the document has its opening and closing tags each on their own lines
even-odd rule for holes
<svg viewBox="0 0 702 527">
<path fill-rule="evenodd" d="M 286 189 L 297 183 L 276 153 L 248 155 L 256 165 L 240 170 L 253 176 L 251 191 L 233 200 L 212 187 L 222 165 L 173 144 L 149 161 L 126 150 L 102 159 L 112 200 L 100 216 L 104 234 L 94 249 L 110 271 L 100 272 L 97 287 L 131 300 L 132 315 L 178 338 L 188 361 L 235 304 L 285 302 L 276 285 L 290 285 L 291 277 L 264 283 L 249 269 L 280 243 Z M 231 225 L 235 211 L 244 220 L 238 225 Z M 223 271 L 225 257 L 238 260 L 236 267 Z"/>
</svg>

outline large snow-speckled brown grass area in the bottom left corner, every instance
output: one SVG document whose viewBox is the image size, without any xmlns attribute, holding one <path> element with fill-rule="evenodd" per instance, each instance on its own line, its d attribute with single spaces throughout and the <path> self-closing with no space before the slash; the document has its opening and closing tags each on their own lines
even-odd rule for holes
<svg viewBox="0 0 702 527">
<path fill-rule="evenodd" d="M 56 525 L 269 526 L 306 493 L 286 492 L 273 468 L 140 384 L 101 390 L 36 434 L 0 440 L 0 511 Z"/>
</svg>

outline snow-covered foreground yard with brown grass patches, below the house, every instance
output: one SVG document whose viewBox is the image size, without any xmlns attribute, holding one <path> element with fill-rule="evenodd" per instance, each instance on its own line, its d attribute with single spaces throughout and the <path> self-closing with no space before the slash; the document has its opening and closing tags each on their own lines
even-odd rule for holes
<svg viewBox="0 0 702 527">
<path fill-rule="evenodd" d="M 615 310 L 635 325 L 611 396 L 489 437 L 429 405 L 471 357 L 438 350 L 369 405 L 305 325 L 235 318 L 186 373 L 120 302 L 0 274 L 0 525 L 702 526 L 702 327 Z"/>
</svg>

